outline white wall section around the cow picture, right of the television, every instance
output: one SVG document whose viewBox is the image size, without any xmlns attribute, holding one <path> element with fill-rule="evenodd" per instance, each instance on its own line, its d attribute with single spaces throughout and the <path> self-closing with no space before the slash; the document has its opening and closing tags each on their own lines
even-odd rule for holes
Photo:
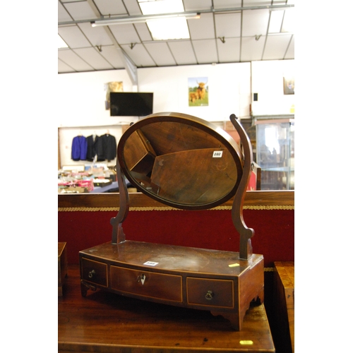
<svg viewBox="0 0 353 353">
<path fill-rule="evenodd" d="M 208 77 L 208 107 L 189 107 L 188 78 Z M 153 112 L 179 112 L 207 121 L 249 116 L 250 64 L 141 68 L 141 92 L 154 92 Z"/>
</svg>

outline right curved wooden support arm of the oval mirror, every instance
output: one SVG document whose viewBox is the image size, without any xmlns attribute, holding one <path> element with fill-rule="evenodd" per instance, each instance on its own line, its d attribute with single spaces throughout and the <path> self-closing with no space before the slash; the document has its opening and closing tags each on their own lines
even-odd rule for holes
<svg viewBox="0 0 353 353">
<path fill-rule="evenodd" d="M 232 221 L 234 227 L 237 229 L 240 235 L 240 247 L 239 247 L 239 258 L 248 259 L 253 254 L 253 248 L 251 246 L 251 237 L 253 237 L 254 231 L 251 228 L 246 227 L 243 218 L 243 203 L 246 194 L 246 188 L 249 184 L 251 168 L 253 164 L 253 153 L 251 151 L 251 144 L 248 136 L 246 135 L 244 128 L 237 121 L 237 116 L 232 114 L 230 121 L 234 125 L 234 128 L 239 133 L 241 143 L 244 148 L 244 169 L 237 193 L 234 196 L 232 206 Z"/>
</svg>

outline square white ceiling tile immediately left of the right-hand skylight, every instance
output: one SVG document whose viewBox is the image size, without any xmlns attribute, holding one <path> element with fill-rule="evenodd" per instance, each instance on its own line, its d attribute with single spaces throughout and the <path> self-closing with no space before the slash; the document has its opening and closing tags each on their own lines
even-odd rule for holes
<svg viewBox="0 0 353 353">
<path fill-rule="evenodd" d="M 244 37 L 250 35 L 265 35 L 268 28 L 268 10 L 246 10 L 243 11 L 243 32 Z"/>
</svg>

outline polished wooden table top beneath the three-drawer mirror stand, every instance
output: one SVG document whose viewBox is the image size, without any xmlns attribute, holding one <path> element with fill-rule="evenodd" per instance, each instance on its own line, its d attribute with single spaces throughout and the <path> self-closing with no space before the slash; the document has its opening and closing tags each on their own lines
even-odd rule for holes
<svg viewBox="0 0 353 353">
<path fill-rule="evenodd" d="M 209 311 L 167 306 L 110 292 L 80 294 L 78 265 L 68 265 L 58 298 L 59 352 L 275 352 L 263 304 L 232 330 Z"/>
</svg>

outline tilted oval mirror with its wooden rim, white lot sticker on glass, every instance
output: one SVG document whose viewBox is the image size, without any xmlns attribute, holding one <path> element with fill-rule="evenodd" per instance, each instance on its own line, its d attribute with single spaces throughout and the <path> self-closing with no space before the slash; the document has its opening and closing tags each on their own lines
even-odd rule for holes
<svg viewBox="0 0 353 353">
<path fill-rule="evenodd" d="M 233 138 L 180 113 L 151 114 L 130 126 L 117 157 L 138 191 L 175 208 L 220 205 L 234 196 L 242 175 L 242 154 Z"/>
</svg>

